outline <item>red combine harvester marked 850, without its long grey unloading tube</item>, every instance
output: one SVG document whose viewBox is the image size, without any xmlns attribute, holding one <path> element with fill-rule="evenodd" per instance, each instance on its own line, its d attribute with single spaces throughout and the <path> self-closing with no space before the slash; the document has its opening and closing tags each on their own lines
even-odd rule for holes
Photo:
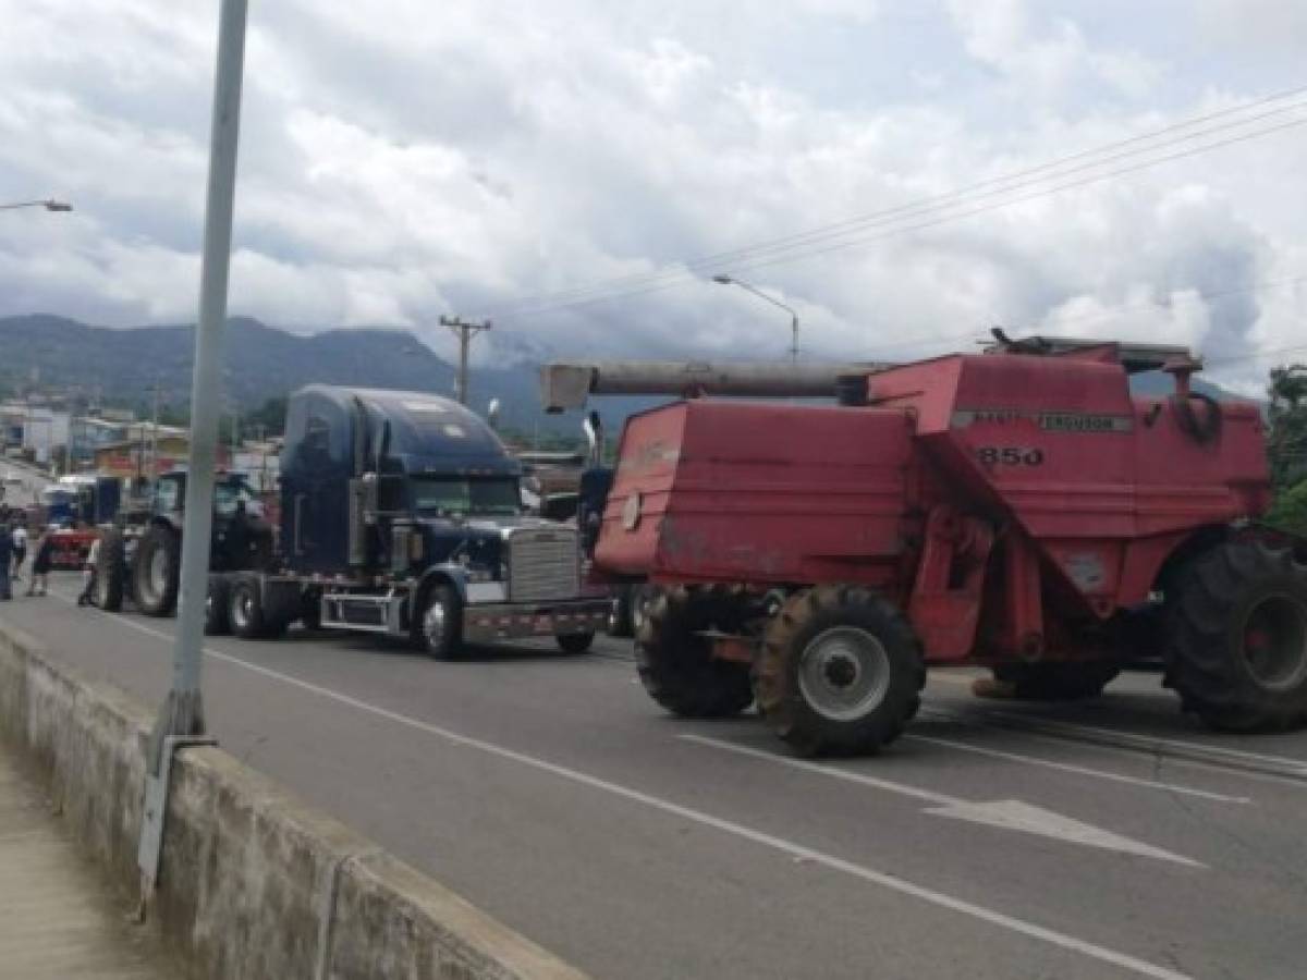
<svg viewBox="0 0 1307 980">
<path fill-rule="evenodd" d="M 1179 348 L 1000 341 L 864 370 L 838 406 L 629 419 L 593 561 L 661 587 L 637 638 L 657 703 L 755 700 L 802 753 L 874 751 L 927 666 L 1067 699 L 1161 652 L 1216 728 L 1307 721 L 1307 567 L 1252 520 L 1257 408 L 1191 392 Z M 1128 375 L 1157 368 L 1174 393 L 1132 397 Z"/>
</svg>

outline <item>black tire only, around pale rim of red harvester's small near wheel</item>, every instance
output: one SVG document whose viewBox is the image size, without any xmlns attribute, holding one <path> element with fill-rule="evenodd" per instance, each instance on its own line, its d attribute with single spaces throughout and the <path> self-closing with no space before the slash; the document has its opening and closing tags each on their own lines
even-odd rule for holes
<svg viewBox="0 0 1307 980">
<path fill-rule="evenodd" d="M 870 634 L 886 655 L 882 696 L 863 713 L 836 719 L 804 694 L 800 668 L 809 644 L 829 630 Z M 856 585 L 818 585 L 786 600 L 763 636 L 754 694 L 767 727 L 804 755 L 869 754 L 903 732 L 921 704 L 925 661 L 903 613 Z"/>
</svg>

